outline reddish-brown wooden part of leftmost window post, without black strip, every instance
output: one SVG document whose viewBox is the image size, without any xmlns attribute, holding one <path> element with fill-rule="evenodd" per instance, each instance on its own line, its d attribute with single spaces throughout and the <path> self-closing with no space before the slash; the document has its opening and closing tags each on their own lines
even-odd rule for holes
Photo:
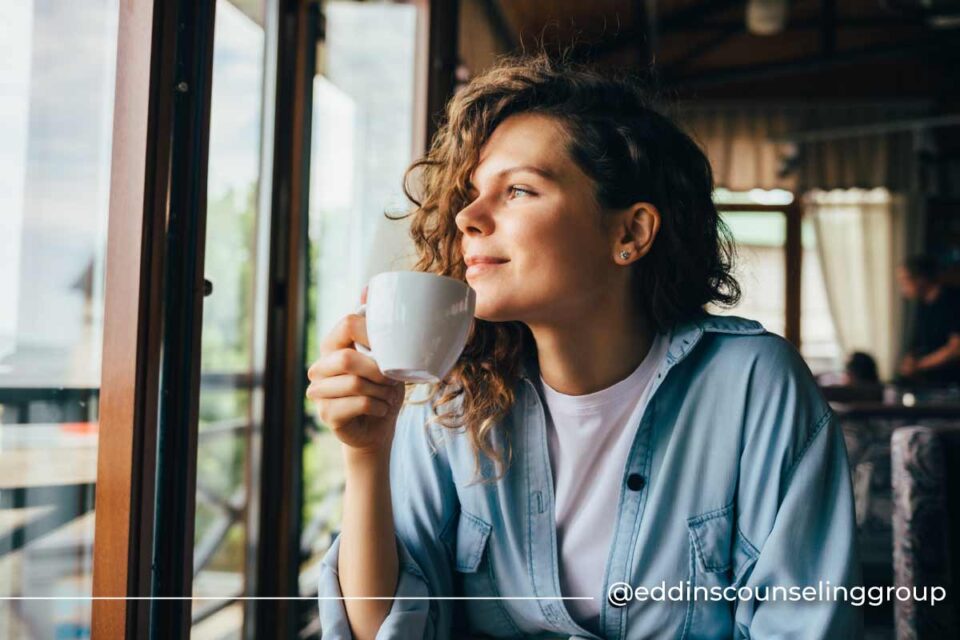
<svg viewBox="0 0 960 640">
<path fill-rule="evenodd" d="M 163 2 L 121 3 L 111 156 L 93 595 L 150 594 L 160 295 L 175 31 Z M 94 600 L 94 640 L 143 638 L 148 602 Z"/>
</svg>

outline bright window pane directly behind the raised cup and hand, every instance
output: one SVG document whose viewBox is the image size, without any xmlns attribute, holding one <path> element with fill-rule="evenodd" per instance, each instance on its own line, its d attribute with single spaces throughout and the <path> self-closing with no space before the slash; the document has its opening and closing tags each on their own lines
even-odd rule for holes
<svg viewBox="0 0 960 640">
<path fill-rule="evenodd" d="M 410 266 L 403 172 L 413 159 L 417 13 L 412 4 L 326 2 L 326 42 L 314 81 L 310 184 L 310 322 L 319 338 L 360 302 L 373 274 Z M 375 251 L 374 251 L 375 250 Z M 308 415 L 314 415 L 309 408 Z M 340 446 L 325 428 L 304 450 L 300 589 L 317 592 L 317 569 L 340 522 Z M 311 616 L 316 605 L 307 603 Z"/>
</svg>

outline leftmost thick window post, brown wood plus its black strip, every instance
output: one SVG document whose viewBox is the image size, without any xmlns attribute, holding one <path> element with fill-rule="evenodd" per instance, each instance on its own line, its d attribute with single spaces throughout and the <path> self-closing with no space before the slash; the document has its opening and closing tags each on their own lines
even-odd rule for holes
<svg viewBox="0 0 960 640">
<path fill-rule="evenodd" d="M 214 7 L 120 5 L 93 553 L 97 640 L 189 634 L 189 600 L 148 596 L 189 597 L 193 577 Z"/>
</svg>

